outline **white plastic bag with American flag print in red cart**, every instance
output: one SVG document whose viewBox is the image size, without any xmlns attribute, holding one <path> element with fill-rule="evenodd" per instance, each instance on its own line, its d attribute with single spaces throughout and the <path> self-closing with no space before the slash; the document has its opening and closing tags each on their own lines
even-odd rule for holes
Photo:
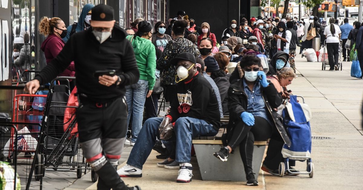
<svg viewBox="0 0 363 190">
<path fill-rule="evenodd" d="M 17 136 L 17 142 L 18 142 L 18 151 L 32 151 L 35 152 L 35 150 L 37 149 L 37 139 L 33 138 L 32 135 L 26 135 L 29 134 L 30 131 L 28 130 L 27 127 L 22 128 L 20 131 L 18 131 L 18 136 Z M 15 144 L 15 135 L 12 137 L 13 138 L 13 145 Z M 14 150 L 15 147 L 10 148 L 10 139 L 8 140 L 8 142 L 5 144 L 4 150 L 3 150 L 3 154 L 5 157 L 9 156 L 9 150 Z M 11 151 L 13 152 L 13 151 Z"/>
</svg>

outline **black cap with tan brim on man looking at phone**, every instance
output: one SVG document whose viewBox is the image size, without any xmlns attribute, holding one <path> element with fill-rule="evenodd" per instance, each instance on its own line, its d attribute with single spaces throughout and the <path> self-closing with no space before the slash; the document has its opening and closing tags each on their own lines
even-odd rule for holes
<svg viewBox="0 0 363 190">
<path fill-rule="evenodd" d="M 114 9 L 111 6 L 99 4 L 92 8 L 92 27 L 113 28 L 114 24 Z"/>
</svg>

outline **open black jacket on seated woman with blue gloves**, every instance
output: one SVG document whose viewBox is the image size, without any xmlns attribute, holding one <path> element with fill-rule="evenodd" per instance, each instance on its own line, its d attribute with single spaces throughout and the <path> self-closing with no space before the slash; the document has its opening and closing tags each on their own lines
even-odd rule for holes
<svg viewBox="0 0 363 190">
<path fill-rule="evenodd" d="M 282 125 L 282 118 L 277 114 L 273 108 L 277 108 L 282 103 L 281 95 L 277 92 L 275 86 L 269 82 L 266 88 L 261 89 L 262 97 L 264 98 L 268 117 L 276 126 L 284 142 L 288 145 L 291 144 L 289 136 Z M 247 94 L 243 88 L 243 77 L 241 80 L 229 86 L 228 89 L 228 109 L 229 109 L 229 123 L 227 126 L 227 142 L 232 137 L 233 128 L 237 123 L 241 122 L 241 113 L 247 110 Z M 267 139 L 266 139 L 267 140 Z"/>
</svg>

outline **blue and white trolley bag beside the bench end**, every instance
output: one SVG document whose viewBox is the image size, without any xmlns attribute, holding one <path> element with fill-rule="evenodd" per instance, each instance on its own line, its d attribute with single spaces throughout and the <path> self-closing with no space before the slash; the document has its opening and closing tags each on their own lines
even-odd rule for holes
<svg viewBox="0 0 363 190">
<path fill-rule="evenodd" d="M 310 157 L 311 153 L 311 130 L 310 130 L 310 118 L 311 112 L 307 105 L 302 105 L 297 102 L 296 96 L 290 96 L 290 108 L 284 109 L 284 126 L 289 133 L 291 146 L 286 144 L 282 148 L 282 156 L 287 158 L 289 156 L 306 156 Z M 293 113 L 291 113 L 291 111 Z M 294 158 L 292 160 L 305 160 Z"/>
</svg>

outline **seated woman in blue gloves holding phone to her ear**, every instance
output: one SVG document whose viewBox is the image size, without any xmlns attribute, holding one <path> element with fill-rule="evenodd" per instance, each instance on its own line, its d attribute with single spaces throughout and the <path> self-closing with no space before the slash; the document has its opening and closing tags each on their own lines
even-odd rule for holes
<svg viewBox="0 0 363 190">
<path fill-rule="evenodd" d="M 222 161 L 240 146 L 247 184 L 257 186 L 252 170 L 253 143 L 267 140 L 274 131 L 272 108 L 281 105 L 282 98 L 271 82 L 266 80 L 261 60 L 256 54 L 245 54 L 240 66 L 244 76 L 228 89 L 229 123 L 226 147 L 213 155 Z"/>
</svg>

